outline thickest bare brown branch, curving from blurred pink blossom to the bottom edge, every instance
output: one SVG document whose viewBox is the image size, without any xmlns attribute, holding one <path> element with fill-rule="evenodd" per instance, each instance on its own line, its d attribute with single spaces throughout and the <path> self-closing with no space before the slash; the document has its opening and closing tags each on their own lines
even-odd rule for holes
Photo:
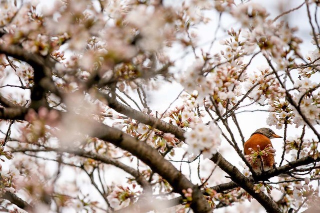
<svg viewBox="0 0 320 213">
<path fill-rule="evenodd" d="M 95 137 L 108 141 L 136 156 L 148 165 L 152 171 L 164 178 L 172 186 L 174 192 L 183 196 L 182 190 L 192 189 L 190 207 L 194 212 L 208 213 L 212 211 L 198 186 L 187 180 L 181 172 L 166 161 L 155 149 L 120 130 L 101 124 L 94 124 L 94 126 L 96 126 Z"/>
</svg>

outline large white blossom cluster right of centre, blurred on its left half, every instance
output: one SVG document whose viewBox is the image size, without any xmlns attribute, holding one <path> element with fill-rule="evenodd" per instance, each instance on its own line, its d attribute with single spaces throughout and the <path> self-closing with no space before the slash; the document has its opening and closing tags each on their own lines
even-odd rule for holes
<svg viewBox="0 0 320 213">
<path fill-rule="evenodd" d="M 248 49 L 239 40 L 240 31 L 231 29 L 228 33 L 231 38 L 221 41 L 226 46 L 225 51 L 214 56 L 203 53 L 204 61 L 196 59 L 179 78 L 186 92 L 197 92 L 199 103 L 211 96 L 226 107 L 226 100 L 236 103 L 236 97 L 242 95 L 240 82 L 245 79 L 242 57 L 248 53 Z"/>
</svg>

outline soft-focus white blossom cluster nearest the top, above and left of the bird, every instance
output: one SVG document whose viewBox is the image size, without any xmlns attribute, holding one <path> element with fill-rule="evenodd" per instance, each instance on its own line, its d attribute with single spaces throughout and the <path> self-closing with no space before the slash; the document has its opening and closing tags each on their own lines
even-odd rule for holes
<svg viewBox="0 0 320 213">
<path fill-rule="evenodd" d="M 272 59 L 277 70 L 296 65 L 294 56 L 289 54 L 299 51 L 298 44 L 302 42 L 293 35 L 297 30 L 295 27 L 290 28 L 283 22 L 276 23 L 268 19 L 265 8 L 253 2 L 241 4 L 231 13 L 243 27 L 251 28 L 246 31 L 246 42 L 254 44 L 265 57 Z"/>
</svg>

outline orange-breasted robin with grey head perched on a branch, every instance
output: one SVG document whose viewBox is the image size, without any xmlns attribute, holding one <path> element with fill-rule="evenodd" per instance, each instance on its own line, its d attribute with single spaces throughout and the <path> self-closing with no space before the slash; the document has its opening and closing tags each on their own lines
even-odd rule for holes
<svg viewBox="0 0 320 213">
<path fill-rule="evenodd" d="M 252 166 L 254 172 L 261 173 L 275 167 L 274 164 L 274 152 L 270 139 L 282 138 L 276 135 L 269 128 L 259 128 L 255 130 L 250 138 L 244 143 L 244 155 L 246 155 L 249 163 Z M 254 152 L 263 151 L 267 148 L 264 155 L 257 155 L 256 158 L 249 156 Z M 261 161 L 262 160 L 262 161 Z"/>
</svg>

